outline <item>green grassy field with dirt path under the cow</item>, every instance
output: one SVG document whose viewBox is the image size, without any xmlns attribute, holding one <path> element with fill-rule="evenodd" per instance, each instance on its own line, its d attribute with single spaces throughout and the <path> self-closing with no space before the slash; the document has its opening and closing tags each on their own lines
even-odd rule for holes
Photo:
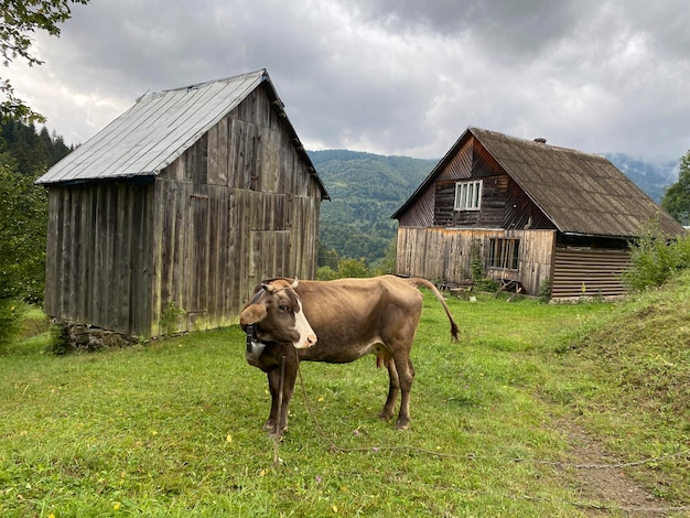
<svg viewBox="0 0 690 518">
<path fill-rule="evenodd" d="M 452 299 L 453 344 L 425 296 L 411 429 L 377 419 L 374 357 L 303 364 L 279 445 L 238 327 L 61 357 L 30 314 L 0 355 L 0 516 L 687 516 L 689 301 L 689 276 L 618 304 Z"/>
</svg>

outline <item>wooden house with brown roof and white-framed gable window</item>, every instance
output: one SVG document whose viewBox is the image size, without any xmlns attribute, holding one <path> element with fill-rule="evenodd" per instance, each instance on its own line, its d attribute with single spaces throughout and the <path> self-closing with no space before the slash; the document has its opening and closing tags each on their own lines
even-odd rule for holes
<svg viewBox="0 0 690 518">
<path fill-rule="evenodd" d="M 684 231 L 605 158 L 479 128 L 392 217 L 398 273 L 463 284 L 474 258 L 500 285 L 550 284 L 557 300 L 624 294 L 629 240 L 651 220 Z"/>
</svg>

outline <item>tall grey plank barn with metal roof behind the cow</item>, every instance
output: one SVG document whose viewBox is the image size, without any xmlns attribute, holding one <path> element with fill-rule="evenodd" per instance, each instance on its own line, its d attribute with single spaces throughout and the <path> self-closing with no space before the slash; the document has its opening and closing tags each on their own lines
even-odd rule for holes
<svg viewBox="0 0 690 518">
<path fill-rule="evenodd" d="M 265 69 L 145 94 L 53 166 L 45 311 L 127 336 L 237 323 L 315 277 L 328 198 Z"/>
</svg>

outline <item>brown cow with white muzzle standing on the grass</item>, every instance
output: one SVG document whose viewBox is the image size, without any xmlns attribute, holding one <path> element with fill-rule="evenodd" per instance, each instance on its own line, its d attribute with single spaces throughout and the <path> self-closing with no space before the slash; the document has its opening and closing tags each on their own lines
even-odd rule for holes
<svg viewBox="0 0 690 518">
<path fill-rule="evenodd" d="M 258 284 L 239 321 L 247 332 L 247 361 L 268 374 L 272 402 L 265 429 L 273 436 L 287 430 L 300 360 L 342 364 L 367 354 L 376 355 L 377 365 L 388 368 L 388 398 L 380 417 L 393 417 L 400 391 L 396 427 L 407 429 L 414 378 L 410 350 L 422 311 L 420 285 L 429 288 L 443 305 L 456 341 L 457 325 L 439 290 L 425 279 L 382 276 L 298 282 L 279 278 Z"/>
</svg>

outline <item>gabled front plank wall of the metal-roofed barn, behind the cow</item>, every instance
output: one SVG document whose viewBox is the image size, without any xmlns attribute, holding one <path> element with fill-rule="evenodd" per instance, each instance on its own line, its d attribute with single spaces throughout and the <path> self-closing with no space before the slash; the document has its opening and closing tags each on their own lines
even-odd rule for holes
<svg viewBox="0 0 690 518">
<path fill-rule="evenodd" d="M 257 282 L 315 277 L 321 191 L 290 139 L 259 88 L 159 175 L 153 334 L 169 302 L 214 328 Z"/>
</svg>

